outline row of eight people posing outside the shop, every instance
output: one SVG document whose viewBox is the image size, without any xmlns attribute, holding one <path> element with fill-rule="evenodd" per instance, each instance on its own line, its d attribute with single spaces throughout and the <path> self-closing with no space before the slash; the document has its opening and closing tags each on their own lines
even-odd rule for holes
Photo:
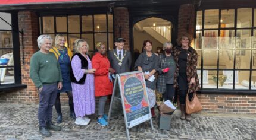
<svg viewBox="0 0 256 140">
<path fill-rule="evenodd" d="M 89 44 L 86 40 L 77 39 L 74 42 L 76 52 L 65 46 L 65 37 L 57 34 L 55 46 L 49 35 L 38 37 L 39 51 L 30 60 L 30 78 L 39 92 L 39 132 L 51 136 L 49 129 L 60 131 L 61 127 L 52 123 L 53 105 L 57 111 L 57 123 L 62 122 L 60 93 L 67 93 L 70 107 L 70 117 L 76 119 L 77 125 L 88 125 L 88 115 L 95 113 L 95 97 L 98 101 L 97 123 L 108 125 L 108 116 L 104 113 L 108 96 L 112 94 L 115 75 L 129 72 L 132 56 L 124 49 L 123 38 L 115 39 L 115 49 L 107 54 L 104 43 L 96 43 L 97 52 L 92 58 L 88 55 Z M 175 89 L 179 89 L 180 119 L 191 120 L 185 114 L 186 93 L 199 90 L 196 74 L 196 51 L 189 46 L 191 39 L 183 35 L 178 39 L 179 46 L 173 47 L 171 42 L 163 45 L 164 53 L 156 55 L 152 52 L 152 42 L 143 42 L 144 52 L 138 56 L 135 69 L 143 71 L 146 81 L 146 91 L 152 117 L 155 117 L 155 91 L 162 93 L 163 100 L 173 100 Z M 157 79 L 149 80 L 155 74 Z M 189 94 L 192 98 L 193 94 Z"/>
</svg>

